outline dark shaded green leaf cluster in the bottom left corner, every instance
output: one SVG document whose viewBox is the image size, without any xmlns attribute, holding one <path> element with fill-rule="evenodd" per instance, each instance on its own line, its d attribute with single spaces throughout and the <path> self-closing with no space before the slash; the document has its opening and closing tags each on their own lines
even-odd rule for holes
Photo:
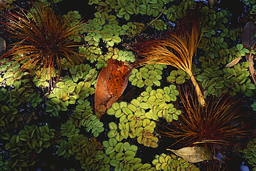
<svg viewBox="0 0 256 171">
<path fill-rule="evenodd" d="M 53 137 L 54 132 L 48 128 L 48 125 L 41 127 L 25 125 L 24 130 L 20 130 L 19 134 L 13 135 L 10 142 L 5 145 L 6 150 L 10 150 L 9 167 L 24 170 L 29 165 L 34 165 L 36 160 L 30 158 L 30 153 L 36 152 L 39 154 L 43 148 L 48 148 Z"/>
</svg>

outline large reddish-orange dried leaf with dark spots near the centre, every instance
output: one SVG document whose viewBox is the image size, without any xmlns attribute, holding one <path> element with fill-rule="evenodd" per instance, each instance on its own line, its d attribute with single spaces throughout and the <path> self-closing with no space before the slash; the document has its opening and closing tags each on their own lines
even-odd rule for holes
<svg viewBox="0 0 256 171">
<path fill-rule="evenodd" d="M 95 114 L 100 117 L 122 95 L 127 87 L 129 67 L 122 61 L 109 59 L 107 67 L 102 68 L 98 76 L 94 108 Z"/>
</svg>

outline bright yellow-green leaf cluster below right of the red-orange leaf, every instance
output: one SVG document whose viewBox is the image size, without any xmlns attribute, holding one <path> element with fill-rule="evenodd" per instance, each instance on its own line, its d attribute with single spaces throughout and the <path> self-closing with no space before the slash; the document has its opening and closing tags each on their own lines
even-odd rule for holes
<svg viewBox="0 0 256 171">
<path fill-rule="evenodd" d="M 115 115 L 119 118 L 119 123 L 109 123 L 111 130 L 108 137 L 115 138 L 117 141 L 137 137 L 138 143 L 152 148 L 158 147 L 158 137 L 154 133 L 155 121 L 159 117 L 167 121 L 178 119 L 181 110 L 176 110 L 170 103 L 170 101 L 176 101 L 178 95 L 179 91 L 174 85 L 157 90 L 152 90 L 152 87 L 148 86 L 140 97 L 132 99 L 130 103 L 113 103 L 107 110 L 107 114 Z"/>
</svg>

